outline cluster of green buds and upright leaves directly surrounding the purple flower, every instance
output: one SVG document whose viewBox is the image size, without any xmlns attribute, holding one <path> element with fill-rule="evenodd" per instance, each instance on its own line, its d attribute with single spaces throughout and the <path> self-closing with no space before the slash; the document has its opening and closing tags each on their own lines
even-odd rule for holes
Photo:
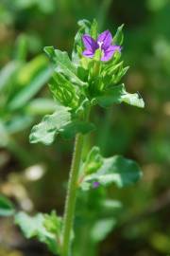
<svg viewBox="0 0 170 256">
<path fill-rule="evenodd" d="M 109 62 L 101 61 L 101 48 L 95 50 L 93 58 L 83 56 L 82 36 L 86 33 L 96 40 L 98 27 L 95 20 L 92 24 L 87 20 L 82 20 L 78 22 L 78 25 L 80 28 L 76 33 L 71 60 L 66 52 L 55 50 L 52 46 L 44 48 L 54 70 L 49 82 L 50 90 L 56 101 L 70 107 L 75 114 L 79 108 L 83 110 L 85 106 L 83 101 L 88 101 L 89 105 L 100 104 L 100 98 L 109 95 L 110 90 L 112 93 L 112 88 L 117 86 L 128 69 L 128 66 L 124 67 L 121 52 L 118 51 L 113 54 Z M 118 27 L 113 36 L 113 44 L 122 46 L 124 39 L 122 30 L 123 26 Z M 117 97 L 122 97 L 122 91 Z"/>
</svg>

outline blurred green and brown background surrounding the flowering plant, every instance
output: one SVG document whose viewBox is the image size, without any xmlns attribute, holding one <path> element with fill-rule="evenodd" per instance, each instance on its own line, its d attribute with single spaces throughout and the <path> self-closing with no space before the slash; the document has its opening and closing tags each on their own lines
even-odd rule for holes
<svg viewBox="0 0 170 256">
<path fill-rule="evenodd" d="M 54 109 L 43 46 L 71 52 L 79 19 L 96 18 L 100 31 L 112 33 L 125 24 L 123 59 L 130 69 L 124 82 L 129 92 L 140 92 L 145 108 L 95 109 L 98 130 L 90 144 L 105 156 L 136 159 L 144 177 L 136 186 L 108 190 L 123 206 L 98 256 L 170 255 L 169 14 L 169 0 L 0 1 L 0 192 L 28 212 L 62 214 L 73 148 L 60 138 L 50 147 L 28 142 L 32 125 Z M 12 219 L 1 218 L 0 256 L 6 255 L 50 254 L 26 241 Z"/>
</svg>

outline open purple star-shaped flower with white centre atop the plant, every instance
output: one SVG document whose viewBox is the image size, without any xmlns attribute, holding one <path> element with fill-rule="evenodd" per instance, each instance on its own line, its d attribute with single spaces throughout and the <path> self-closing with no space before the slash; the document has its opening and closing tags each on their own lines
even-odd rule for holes
<svg viewBox="0 0 170 256">
<path fill-rule="evenodd" d="M 112 36 L 110 30 L 106 30 L 99 34 L 96 41 L 88 34 L 83 35 L 82 40 L 86 47 L 83 51 L 83 55 L 88 58 L 93 58 L 95 50 L 100 48 L 102 50 L 101 61 L 108 62 L 116 50 L 121 51 L 121 46 L 111 45 Z"/>
</svg>

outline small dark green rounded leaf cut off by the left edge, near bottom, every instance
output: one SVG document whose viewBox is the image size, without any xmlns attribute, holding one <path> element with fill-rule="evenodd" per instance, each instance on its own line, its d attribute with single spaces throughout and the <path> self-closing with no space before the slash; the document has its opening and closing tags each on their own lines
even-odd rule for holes
<svg viewBox="0 0 170 256">
<path fill-rule="evenodd" d="M 8 217 L 15 212 L 13 204 L 4 195 L 0 195 L 0 216 Z"/>
</svg>

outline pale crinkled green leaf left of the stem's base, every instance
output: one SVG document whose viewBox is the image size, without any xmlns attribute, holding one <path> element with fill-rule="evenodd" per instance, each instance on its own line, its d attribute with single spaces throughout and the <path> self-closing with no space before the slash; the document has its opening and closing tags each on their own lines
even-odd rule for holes
<svg viewBox="0 0 170 256">
<path fill-rule="evenodd" d="M 15 215 L 15 223 L 22 229 L 26 238 L 37 238 L 44 243 L 55 255 L 59 253 L 59 235 L 61 219 L 52 212 L 51 214 L 38 213 L 34 217 L 25 212 Z"/>
</svg>

